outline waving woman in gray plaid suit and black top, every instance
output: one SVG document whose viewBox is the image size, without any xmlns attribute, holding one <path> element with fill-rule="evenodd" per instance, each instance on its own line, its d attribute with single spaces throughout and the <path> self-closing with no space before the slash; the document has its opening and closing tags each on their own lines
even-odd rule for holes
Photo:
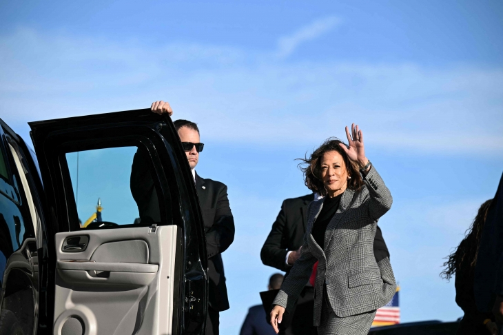
<svg viewBox="0 0 503 335">
<path fill-rule="evenodd" d="M 358 125 L 351 125 L 351 132 L 346 127 L 349 147 L 328 139 L 309 159 L 303 159 L 307 187 L 324 197 L 309 205 L 302 254 L 274 300 L 271 325 L 276 333 L 316 261 L 314 325 L 320 335 L 367 335 L 376 309 L 395 294 L 389 258 L 376 263 L 372 249 L 378 219 L 393 199 L 365 156 Z"/>
</svg>

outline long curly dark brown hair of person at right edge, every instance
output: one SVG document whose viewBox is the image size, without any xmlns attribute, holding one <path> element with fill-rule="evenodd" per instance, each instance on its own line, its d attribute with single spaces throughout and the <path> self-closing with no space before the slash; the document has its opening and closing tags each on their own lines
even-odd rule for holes
<svg viewBox="0 0 503 335">
<path fill-rule="evenodd" d="M 458 245 L 454 252 L 447 257 L 447 261 L 444 263 L 445 269 L 440 272 L 440 276 L 442 278 L 446 278 L 449 281 L 453 274 L 460 270 L 462 263 L 468 263 L 472 268 L 475 267 L 475 264 L 477 263 L 480 238 L 482 237 L 482 229 L 484 228 L 484 223 L 486 222 L 487 211 L 489 210 L 492 202 L 493 199 L 489 199 L 480 206 L 471 227 L 466 230 L 463 241 L 461 241 L 460 245 Z"/>
</svg>

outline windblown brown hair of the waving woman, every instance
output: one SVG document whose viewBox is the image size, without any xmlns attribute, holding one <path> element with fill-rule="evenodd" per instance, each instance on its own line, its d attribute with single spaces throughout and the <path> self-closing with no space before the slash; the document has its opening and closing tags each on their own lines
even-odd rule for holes
<svg viewBox="0 0 503 335">
<path fill-rule="evenodd" d="M 349 159 L 346 152 L 340 147 L 340 143 L 344 144 L 340 139 L 330 137 L 325 143 L 320 145 L 320 148 L 314 150 L 309 158 L 306 155 L 305 158 L 298 159 L 302 161 L 302 163 L 299 163 L 299 168 L 304 173 L 304 182 L 309 190 L 318 192 L 322 196 L 327 195 L 327 190 L 325 190 L 321 178 L 321 158 L 325 152 L 329 151 L 338 152 L 342 156 L 342 159 L 344 159 L 347 172 L 351 176 L 351 179 L 347 181 L 347 188 L 358 191 L 362 187 L 363 181 L 358 170 L 358 165 Z"/>
</svg>

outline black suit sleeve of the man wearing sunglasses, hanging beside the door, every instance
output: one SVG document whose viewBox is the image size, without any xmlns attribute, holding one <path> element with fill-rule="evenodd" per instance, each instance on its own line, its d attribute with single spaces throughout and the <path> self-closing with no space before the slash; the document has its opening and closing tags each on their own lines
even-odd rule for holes
<svg viewBox="0 0 503 335">
<path fill-rule="evenodd" d="M 214 223 L 206 232 L 208 258 L 225 252 L 234 241 L 234 218 L 227 199 L 227 186 L 218 187 L 217 199 Z"/>
</svg>

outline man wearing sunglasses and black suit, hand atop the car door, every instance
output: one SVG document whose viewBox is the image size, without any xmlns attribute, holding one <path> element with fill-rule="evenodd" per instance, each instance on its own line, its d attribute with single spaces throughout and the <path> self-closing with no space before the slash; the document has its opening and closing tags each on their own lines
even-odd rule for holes
<svg viewBox="0 0 503 335">
<path fill-rule="evenodd" d="M 169 103 L 156 101 L 150 108 L 157 114 L 173 114 Z M 196 183 L 196 191 L 201 204 L 201 212 L 205 224 L 206 245 L 208 254 L 209 304 L 206 319 L 206 334 L 217 335 L 219 312 L 229 309 L 227 287 L 223 270 L 222 252 L 225 252 L 234 241 L 234 218 L 232 217 L 227 186 L 219 181 L 203 179 L 196 173 L 199 153 L 203 151 L 199 129 L 196 123 L 187 120 L 176 120 L 174 126 L 182 141 L 183 150 L 187 155 L 192 176 Z"/>
</svg>

